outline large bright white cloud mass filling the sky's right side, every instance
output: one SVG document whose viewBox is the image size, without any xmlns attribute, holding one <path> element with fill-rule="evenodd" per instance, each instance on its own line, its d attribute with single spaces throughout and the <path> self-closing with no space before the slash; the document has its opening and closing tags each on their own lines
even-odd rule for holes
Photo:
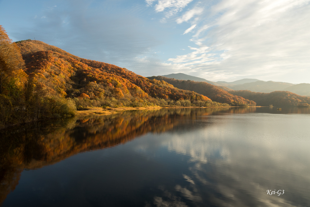
<svg viewBox="0 0 310 207">
<path fill-rule="evenodd" d="M 191 41 L 200 47 L 168 61 L 178 68 L 181 64 L 182 70 L 188 70 L 189 74 L 192 71 L 206 74 L 205 78 L 211 80 L 255 77 L 309 82 L 297 80 L 301 74 L 310 75 L 309 11 L 309 0 L 222 1 L 204 10 L 195 23 L 197 31 Z M 192 9 L 176 22 L 190 20 L 196 13 Z M 208 50 L 199 51 L 206 45 Z M 213 53 L 213 60 L 204 52 Z"/>
</svg>

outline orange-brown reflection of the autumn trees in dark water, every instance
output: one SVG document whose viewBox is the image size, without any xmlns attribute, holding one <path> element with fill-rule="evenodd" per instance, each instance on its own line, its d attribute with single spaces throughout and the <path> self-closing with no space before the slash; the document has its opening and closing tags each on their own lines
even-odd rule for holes
<svg viewBox="0 0 310 207">
<path fill-rule="evenodd" d="M 0 133 L 0 203 L 15 189 L 23 169 L 36 169 L 71 155 L 126 143 L 148 132 L 193 125 L 214 112 L 244 113 L 255 108 L 163 108 L 89 115 L 26 125 Z"/>
</svg>

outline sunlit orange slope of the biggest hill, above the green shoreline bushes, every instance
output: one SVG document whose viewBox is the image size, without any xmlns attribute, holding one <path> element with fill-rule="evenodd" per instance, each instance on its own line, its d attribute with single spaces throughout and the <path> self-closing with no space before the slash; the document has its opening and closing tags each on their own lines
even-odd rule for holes
<svg viewBox="0 0 310 207">
<path fill-rule="evenodd" d="M 125 68 L 74 56 L 40 41 L 17 43 L 26 64 L 26 72 L 42 83 L 50 94 L 62 97 L 103 97 L 127 102 L 167 100 L 210 101 L 196 92 L 175 88 L 164 81 L 149 80 Z M 128 105 L 128 104 L 127 104 Z"/>
</svg>

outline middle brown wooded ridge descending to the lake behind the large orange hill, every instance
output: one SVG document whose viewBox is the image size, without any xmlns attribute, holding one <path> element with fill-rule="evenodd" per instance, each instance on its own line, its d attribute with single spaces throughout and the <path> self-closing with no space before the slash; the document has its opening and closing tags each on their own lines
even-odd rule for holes
<svg viewBox="0 0 310 207">
<path fill-rule="evenodd" d="M 197 93 L 203 94 L 208 96 L 212 101 L 220 102 L 220 103 L 227 103 L 231 106 L 255 106 L 256 103 L 254 101 L 247 100 L 240 96 L 234 96 L 227 91 L 214 86 L 210 83 L 206 82 L 197 82 L 191 80 L 177 80 L 171 79 L 163 76 L 152 76 L 148 77 L 149 79 L 156 79 L 160 81 L 165 81 L 167 83 L 172 84 L 174 87 L 184 89 L 184 90 L 191 90 Z"/>
</svg>

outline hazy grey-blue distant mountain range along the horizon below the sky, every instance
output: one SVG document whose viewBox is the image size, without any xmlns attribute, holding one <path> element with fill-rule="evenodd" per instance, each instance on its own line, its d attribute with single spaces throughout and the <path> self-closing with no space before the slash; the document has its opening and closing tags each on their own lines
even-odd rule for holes
<svg viewBox="0 0 310 207">
<path fill-rule="evenodd" d="M 186 75 L 183 73 L 163 75 L 167 78 L 174 78 L 178 80 L 193 80 L 200 82 L 207 82 L 212 85 L 218 86 L 225 91 L 230 90 L 249 90 L 252 92 L 263 92 L 270 93 L 273 91 L 289 91 L 296 93 L 300 96 L 310 96 L 310 84 L 309 83 L 285 83 L 285 82 L 274 82 L 274 81 L 262 81 L 259 79 L 241 79 L 233 82 L 226 81 L 209 81 L 203 78 L 198 78 L 191 75 Z"/>
</svg>

